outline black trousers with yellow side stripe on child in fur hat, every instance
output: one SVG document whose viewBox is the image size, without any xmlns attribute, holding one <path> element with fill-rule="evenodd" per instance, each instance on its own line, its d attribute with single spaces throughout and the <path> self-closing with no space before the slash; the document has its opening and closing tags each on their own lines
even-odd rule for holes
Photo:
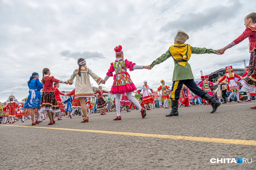
<svg viewBox="0 0 256 170">
<path fill-rule="evenodd" d="M 199 97 L 203 98 L 206 92 L 201 90 L 201 88 L 197 87 L 195 81 L 192 80 L 177 80 L 172 82 L 172 92 L 171 92 L 171 99 L 178 100 L 180 98 L 180 90 L 182 85 L 185 84 L 194 94 L 198 95 Z"/>
</svg>

